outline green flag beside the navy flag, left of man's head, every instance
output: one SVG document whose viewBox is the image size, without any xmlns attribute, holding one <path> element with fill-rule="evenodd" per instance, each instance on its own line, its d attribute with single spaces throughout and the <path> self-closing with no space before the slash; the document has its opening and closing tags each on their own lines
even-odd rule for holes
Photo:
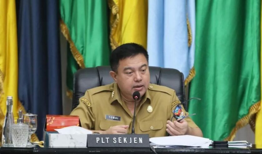
<svg viewBox="0 0 262 154">
<path fill-rule="evenodd" d="M 109 20 L 105 0 L 60 0 L 61 31 L 70 44 L 67 86 L 78 68 L 109 65 Z"/>
</svg>

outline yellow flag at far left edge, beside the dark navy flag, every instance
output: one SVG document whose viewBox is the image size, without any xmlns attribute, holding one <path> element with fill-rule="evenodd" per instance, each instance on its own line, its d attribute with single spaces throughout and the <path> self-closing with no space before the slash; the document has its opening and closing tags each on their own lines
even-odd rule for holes
<svg viewBox="0 0 262 154">
<path fill-rule="evenodd" d="M 17 22 L 15 0 L 0 0 L 0 132 L 6 114 L 7 96 L 13 97 L 13 114 L 17 119 Z M 1 136 L 2 137 L 2 136 Z"/>
</svg>

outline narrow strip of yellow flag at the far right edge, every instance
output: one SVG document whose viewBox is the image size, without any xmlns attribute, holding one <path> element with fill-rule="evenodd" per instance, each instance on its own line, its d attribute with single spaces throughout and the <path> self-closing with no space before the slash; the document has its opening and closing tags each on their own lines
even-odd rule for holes
<svg viewBox="0 0 262 154">
<path fill-rule="evenodd" d="M 262 7 L 262 4 L 261 4 Z M 261 21 L 262 21 L 262 12 L 261 12 Z M 261 32 L 262 32 L 262 25 L 261 25 Z M 261 38 L 262 34 L 260 33 Z M 261 50 L 262 50 L 262 39 L 261 39 Z M 262 52 L 260 53 L 260 59 L 262 60 Z M 260 83 L 262 83 L 262 63 L 260 63 Z M 261 88 L 261 96 L 262 96 L 262 88 Z M 262 145 L 262 103 L 260 102 L 260 110 L 257 112 L 256 117 L 256 125 L 255 125 L 255 144 Z"/>
</svg>

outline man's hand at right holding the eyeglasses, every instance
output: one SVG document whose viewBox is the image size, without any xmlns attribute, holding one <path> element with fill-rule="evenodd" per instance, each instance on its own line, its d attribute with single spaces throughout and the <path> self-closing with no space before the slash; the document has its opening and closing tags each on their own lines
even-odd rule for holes
<svg viewBox="0 0 262 154">
<path fill-rule="evenodd" d="M 171 122 L 170 120 L 167 121 L 167 129 L 166 131 L 171 136 L 176 135 L 187 135 L 189 131 L 188 123 L 186 120 L 181 120 L 180 122 L 174 121 Z"/>
</svg>

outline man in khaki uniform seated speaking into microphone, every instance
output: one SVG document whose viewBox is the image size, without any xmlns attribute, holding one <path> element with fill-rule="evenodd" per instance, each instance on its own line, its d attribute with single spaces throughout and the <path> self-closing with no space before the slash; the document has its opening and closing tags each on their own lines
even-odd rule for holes
<svg viewBox="0 0 262 154">
<path fill-rule="evenodd" d="M 178 106 L 180 115 L 188 113 L 173 89 L 149 83 L 148 53 L 142 46 L 127 43 L 117 47 L 111 53 L 110 66 L 115 82 L 87 90 L 71 112 L 80 117 L 82 127 L 101 134 L 131 133 L 133 92 L 138 91 L 141 97 L 136 104 L 135 133 L 149 137 L 203 136 L 191 118 L 180 122 L 172 118 Z"/>
</svg>

